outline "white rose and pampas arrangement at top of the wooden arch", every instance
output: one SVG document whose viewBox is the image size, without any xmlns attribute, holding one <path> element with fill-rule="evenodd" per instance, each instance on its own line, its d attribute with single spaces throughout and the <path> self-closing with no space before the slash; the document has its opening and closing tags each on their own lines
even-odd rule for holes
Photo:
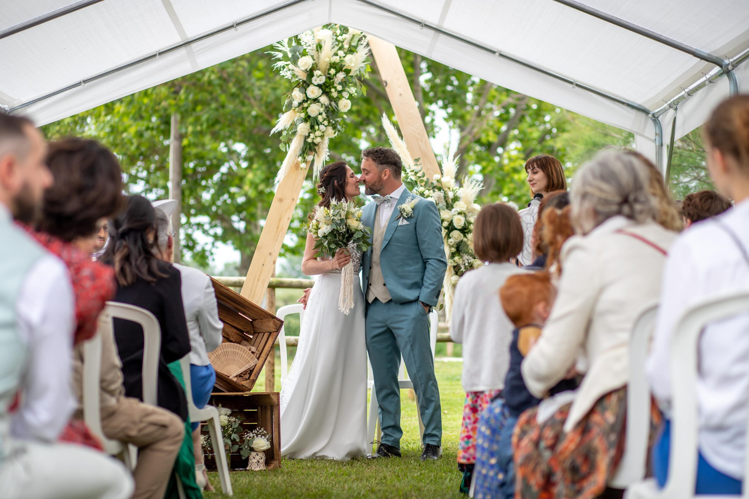
<svg viewBox="0 0 749 499">
<path fill-rule="evenodd" d="M 327 160 L 328 141 L 343 128 L 342 115 L 351 109 L 351 97 L 366 93 L 369 46 L 366 34 L 347 26 L 327 24 L 273 45 L 279 59 L 273 68 L 294 85 L 287 94 L 284 114 L 270 133 L 281 133 L 286 151 L 278 179 L 295 162 L 314 160 L 317 179 Z"/>
</svg>

